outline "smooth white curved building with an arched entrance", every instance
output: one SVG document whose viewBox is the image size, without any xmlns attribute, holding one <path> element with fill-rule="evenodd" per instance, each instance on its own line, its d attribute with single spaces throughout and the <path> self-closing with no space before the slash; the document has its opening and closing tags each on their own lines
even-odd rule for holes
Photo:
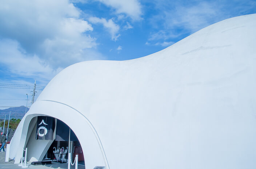
<svg viewBox="0 0 256 169">
<path fill-rule="evenodd" d="M 176 44 L 127 61 L 86 61 L 61 71 L 21 120 L 20 149 L 40 161 L 37 116 L 67 124 L 85 167 L 256 168 L 256 15 L 210 25 Z"/>
</svg>

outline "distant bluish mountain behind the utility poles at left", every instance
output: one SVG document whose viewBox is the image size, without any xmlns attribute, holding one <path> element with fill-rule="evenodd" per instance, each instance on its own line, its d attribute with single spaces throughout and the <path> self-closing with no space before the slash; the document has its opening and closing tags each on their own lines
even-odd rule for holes
<svg viewBox="0 0 256 169">
<path fill-rule="evenodd" d="M 0 110 L 0 121 L 4 120 L 4 116 L 6 115 L 6 119 L 8 120 L 9 118 L 9 112 L 11 111 L 11 117 L 10 119 L 22 119 L 23 116 L 25 115 L 25 106 L 20 106 L 20 107 L 10 107 L 4 110 Z M 27 108 L 27 111 L 29 108 Z"/>
</svg>

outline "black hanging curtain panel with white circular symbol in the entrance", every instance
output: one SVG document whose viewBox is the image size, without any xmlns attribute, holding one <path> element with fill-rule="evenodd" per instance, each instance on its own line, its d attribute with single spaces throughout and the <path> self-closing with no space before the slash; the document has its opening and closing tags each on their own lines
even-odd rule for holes
<svg viewBox="0 0 256 169">
<path fill-rule="evenodd" d="M 37 116 L 36 139 L 53 140 L 55 118 L 49 116 Z"/>
</svg>

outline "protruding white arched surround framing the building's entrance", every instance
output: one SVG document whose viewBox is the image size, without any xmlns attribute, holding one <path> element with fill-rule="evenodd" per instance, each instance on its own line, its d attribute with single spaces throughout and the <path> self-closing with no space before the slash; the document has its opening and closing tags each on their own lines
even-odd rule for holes
<svg viewBox="0 0 256 169">
<path fill-rule="evenodd" d="M 40 143 L 38 141 L 36 143 L 35 135 L 32 135 L 32 133 L 36 133 L 37 116 L 50 116 L 56 120 L 59 119 L 73 130 L 83 150 L 87 169 L 93 169 L 95 166 L 104 166 L 109 169 L 103 146 L 92 123 L 76 109 L 49 100 L 35 102 L 21 121 L 21 124 L 23 123 L 22 128 L 17 128 L 16 136 L 14 136 L 16 138 L 11 143 L 10 151 L 12 152 L 10 156 L 15 157 L 15 163 L 19 163 L 21 158 L 20 151 L 17 150 L 25 146 L 30 149 L 28 150 L 31 154 L 30 161 L 42 160 L 55 139 L 40 140 Z M 29 143 L 30 140 L 34 140 L 33 143 Z"/>
</svg>

